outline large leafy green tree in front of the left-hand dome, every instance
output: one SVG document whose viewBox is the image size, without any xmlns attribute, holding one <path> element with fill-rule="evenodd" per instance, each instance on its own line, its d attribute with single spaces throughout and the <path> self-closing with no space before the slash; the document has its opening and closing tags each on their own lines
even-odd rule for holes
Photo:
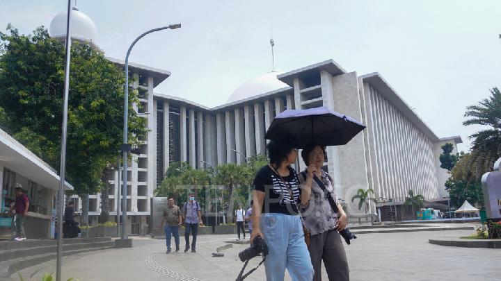
<svg viewBox="0 0 501 281">
<path fill-rule="evenodd" d="M 10 25 L 7 31 L 0 33 L 0 127 L 59 167 L 65 48 L 43 27 L 31 35 L 19 35 Z M 103 187 L 102 173 L 118 155 L 125 76 L 88 44 L 74 42 L 71 53 L 66 178 L 83 196 Z M 134 102 L 140 104 L 131 91 L 129 143 L 138 145 L 148 129 Z"/>
</svg>

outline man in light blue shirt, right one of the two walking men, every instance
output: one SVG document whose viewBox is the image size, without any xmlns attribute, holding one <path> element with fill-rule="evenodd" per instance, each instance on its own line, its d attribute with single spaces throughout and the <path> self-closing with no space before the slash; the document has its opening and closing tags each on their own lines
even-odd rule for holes
<svg viewBox="0 0 501 281">
<path fill-rule="evenodd" d="M 192 234 L 191 240 L 191 253 L 196 253 L 196 236 L 198 234 L 198 224 L 203 226 L 202 213 L 200 212 L 200 204 L 195 201 L 195 194 L 190 192 L 188 196 L 188 201 L 186 201 L 182 207 L 182 216 L 184 218 L 184 241 L 186 242 L 186 248 L 184 248 L 184 253 L 188 252 L 190 249 L 189 235 Z"/>
</svg>

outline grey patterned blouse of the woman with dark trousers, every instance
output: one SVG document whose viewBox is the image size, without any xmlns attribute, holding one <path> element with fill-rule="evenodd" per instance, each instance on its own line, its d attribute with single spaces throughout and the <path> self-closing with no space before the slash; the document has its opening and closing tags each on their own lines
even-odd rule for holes
<svg viewBox="0 0 501 281">
<path fill-rule="evenodd" d="M 333 189 L 333 183 L 329 180 L 330 177 L 324 170 L 321 170 L 321 175 L 321 181 L 324 182 L 326 189 L 331 192 L 337 203 L 337 196 Z M 308 172 L 306 170 L 299 174 L 298 178 L 301 185 L 305 183 L 307 176 Z M 321 190 L 315 180 L 312 180 L 310 201 L 308 205 L 301 207 L 301 215 L 303 216 L 306 227 L 310 230 L 311 236 L 335 229 L 338 215 L 333 212 L 324 191 Z"/>
</svg>

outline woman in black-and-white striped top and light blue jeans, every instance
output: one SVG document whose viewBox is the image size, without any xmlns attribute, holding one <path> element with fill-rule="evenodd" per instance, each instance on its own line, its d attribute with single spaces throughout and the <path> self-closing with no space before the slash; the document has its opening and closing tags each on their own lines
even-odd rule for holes
<svg viewBox="0 0 501 281">
<path fill-rule="evenodd" d="M 250 241 L 264 238 L 269 249 L 264 266 L 268 281 L 284 280 L 285 269 L 292 280 L 310 281 L 313 267 L 305 244 L 298 203 L 301 196 L 296 171 L 298 151 L 293 137 L 271 140 L 267 146 L 270 164 L 254 179 L 253 232 Z"/>
</svg>

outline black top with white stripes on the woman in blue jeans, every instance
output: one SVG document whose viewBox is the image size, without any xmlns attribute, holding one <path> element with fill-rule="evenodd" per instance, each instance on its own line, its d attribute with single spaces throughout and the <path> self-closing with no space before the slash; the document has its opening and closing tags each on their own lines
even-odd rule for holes
<svg viewBox="0 0 501 281">
<path fill-rule="evenodd" d="M 296 171 L 289 167 L 289 176 L 282 178 L 268 165 L 257 172 L 254 188 L 266 194 L 262 213 L 298 214 L 297 203 L 300 200 L 301 189 Z M 292 192 L 292 197 L 289 190 Z"/>
</svg>

